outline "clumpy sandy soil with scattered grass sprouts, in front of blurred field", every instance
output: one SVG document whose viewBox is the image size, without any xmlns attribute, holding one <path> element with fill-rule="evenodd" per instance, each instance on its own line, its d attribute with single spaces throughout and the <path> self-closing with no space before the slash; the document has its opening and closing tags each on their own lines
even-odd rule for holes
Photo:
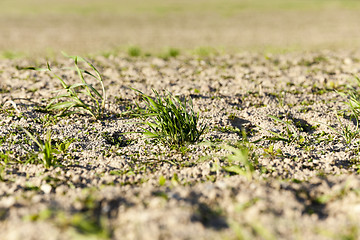
<svg viewBox="0 0 360 240">
<path fill-rule="evenodd" d="M 358 56 L 1 60 L 0 239 L 359 239 Z"/>
</svg>

